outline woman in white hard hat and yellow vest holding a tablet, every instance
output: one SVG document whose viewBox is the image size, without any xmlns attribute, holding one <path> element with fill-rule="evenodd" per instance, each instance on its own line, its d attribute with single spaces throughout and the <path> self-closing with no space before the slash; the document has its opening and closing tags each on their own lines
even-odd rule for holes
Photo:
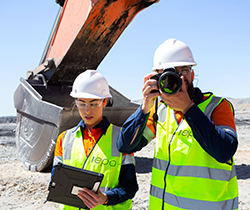
<svg viewBox="0 0 250 210">
<path fill-rule="evenodd" d="M 102 115 L 108 98 L 112 97 L 107 80 L 99 72 L 87 70 L 77 76 L 70 95 L 75 98 L 82 120 L 59 135 L 53 166 L 63 163 L 104 174 L 97 193 L 87 188 L 78 191 L 78 197 L 88 208 L 132 209 L 131 199 L 138 190 L 135 159 L 133 154 L 118 151 L 120 127 Z M 79 208 L 60 204 L 59 209 Z"/>
</svg>

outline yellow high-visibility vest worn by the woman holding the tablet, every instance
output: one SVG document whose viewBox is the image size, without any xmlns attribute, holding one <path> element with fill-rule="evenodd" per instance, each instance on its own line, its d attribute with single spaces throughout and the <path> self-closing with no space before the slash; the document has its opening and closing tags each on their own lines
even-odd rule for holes
<svg viewBox="0 0 250 210">
<path fill-rule="evenodd" d="M 107 191 L 119 185 L 119 175 L 122 164 L 122 153 L 117 149 L 117 139 L 120 127 L 110 124 L 106 134 L 95 144 L 91 153 L 86 157 L 80 127 L 67 130 L 62 140 L 63 160 L 66 165 L 104 174 L 100 189 Z M 80 198 L 79 198 L 80 199 Z M 60 204 L 60 210 L 77 210 L 79 208 Z M 117 205 L 98 205 L 94 210 L 128 210 L 132 209 L 129 199 Z"/>
</svg>

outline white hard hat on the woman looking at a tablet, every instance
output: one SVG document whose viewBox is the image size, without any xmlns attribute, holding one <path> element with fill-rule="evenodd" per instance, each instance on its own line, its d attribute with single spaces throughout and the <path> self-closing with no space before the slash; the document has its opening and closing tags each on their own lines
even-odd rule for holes
<svg viewBox="0 0 250 210">
<path fill-rule="evenodd" d="M 96 70 L 86 70 L 79 74 L 72 87 L 70 95 L 73 98 L 111 98 L 108 82 Z"/>
</svg>

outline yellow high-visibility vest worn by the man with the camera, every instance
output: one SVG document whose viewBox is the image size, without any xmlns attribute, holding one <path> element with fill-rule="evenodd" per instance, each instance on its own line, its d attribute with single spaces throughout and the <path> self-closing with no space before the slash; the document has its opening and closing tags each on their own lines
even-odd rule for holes
<svg viewBox="0 0 250 210">
<path fill-rule="evenodd" d="M 209 94 L 198 107 L 208 118 L 223 98 Z M 174 110 L 158 109 L 149 209 L 238 209 L 234 159 L 219 163 L 193 137 L 185 119 Z"/>
</svg>

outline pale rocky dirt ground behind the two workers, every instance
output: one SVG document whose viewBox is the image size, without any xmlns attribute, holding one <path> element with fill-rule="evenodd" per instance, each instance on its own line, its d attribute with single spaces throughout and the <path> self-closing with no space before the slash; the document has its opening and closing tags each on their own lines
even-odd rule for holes
<svg viewBox="0 0 250 210">
<path fill-rule="evenodd" d="M 237 105 L 237 104 L 236 104 Z M 236 106 L 239 107 L 239 106 Z M 239 147 L 235 155 L 239 186 L 239 209 L 250 210 L 250 106 L 236 109 Z M 238 110 L 238 111 L 237 111 Z M 25 171 L 16 153 L 15 122 L 0 121 L 0 210 L 54 210 L 57 204 L 44 201 L 50 173 Z M 148 209 L 154 142 L 135 153 L 139 191 L 133 209 Z"/>
</svg>

